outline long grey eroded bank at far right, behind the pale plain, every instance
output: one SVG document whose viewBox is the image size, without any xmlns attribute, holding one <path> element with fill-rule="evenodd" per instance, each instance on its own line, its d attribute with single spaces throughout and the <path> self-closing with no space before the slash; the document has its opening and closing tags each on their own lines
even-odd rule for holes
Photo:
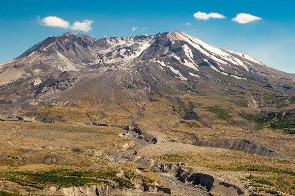
<svg viewBox="0 0 295 196">
<path fill-rule="evenodd" d="M 273 150 L 267 149 L 261 145 L 253 144 L 247 140 L 239 140 L 239 141 L 225 141 L 220 143 L 214 142 L 204 142 L 204 141 L 196 141 L 192 143 L 192 145 L 203 146 L 203 147 L 218 147 L 225 148 L 230 150 L 238 150 L 249 154 L 257 154 L 260 156 L 269 156 L 269 157 L 278 157 L 278 158 L 291 158 L 288 155 L 281 154 L 279 152 L 275 152 Z"/>
</svg>

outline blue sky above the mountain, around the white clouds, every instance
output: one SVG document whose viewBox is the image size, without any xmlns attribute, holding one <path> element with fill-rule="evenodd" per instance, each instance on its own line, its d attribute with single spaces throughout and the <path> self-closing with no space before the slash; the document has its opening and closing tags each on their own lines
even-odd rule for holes
<svg viewBox="0 0 295 196">
<path fill-rule="evenodd" d="M 294 7 L 292 0 L 5 1 L 0 6 L 0 62 L 67 31 L 100 39 L 180 30 L 210 45 L 245 52 L 270 67 L 295 73 Z M 199 11 L 226 18 L 196 19 L 194 14 Z M 233 22 L 239 13 L 262 20 Z M 49 16 L 63 19 L 63 28 L 46 26 L 43 19 Z M 133 27 L 138 28 L 132 31 Z"/>
</svg>

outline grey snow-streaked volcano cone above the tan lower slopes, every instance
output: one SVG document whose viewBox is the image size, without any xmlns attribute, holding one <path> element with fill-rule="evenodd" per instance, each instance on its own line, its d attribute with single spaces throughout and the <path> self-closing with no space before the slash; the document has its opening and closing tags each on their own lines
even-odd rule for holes
<svg viewBox="0 0 295 196">
<path fill-rule="evenodd" d="M 208 79 L 244 89 L 251 82 L 272 85 L 273 94 L 295 92 L 284 82 L 295 81 L 294 74 L 274 70 L 245 53 L 210 46 L 184 32 L 108 39 L 67 32 L 0 64 L 0 103 L 40 102 L 46 96 L 68 100 L 69 94 L 61 93 L 65 90 L 81 93 L 71 95 L 71 102 L 90 94 L 100 94 L 101 101 L 108 102 L 118 99 L 114 92 L 147 98 L 149 93 L 181 93 L 183 86 Z"/>
</svg>

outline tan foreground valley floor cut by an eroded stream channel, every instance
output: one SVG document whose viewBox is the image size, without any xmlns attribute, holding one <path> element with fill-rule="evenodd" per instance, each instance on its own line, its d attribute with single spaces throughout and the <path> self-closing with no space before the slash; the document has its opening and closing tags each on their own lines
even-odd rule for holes
<svg viewBox="0 0 295 196">
<path fill-rule="evenodd" d="M 76 195 L 80 187 L 80 195 L 295 195 L 294 159 L 194 146 L 165 132 L 152 142 L 146 136 L 153 131 L 0 124 L 0 188 L 7 193 Z"/>
</svg>

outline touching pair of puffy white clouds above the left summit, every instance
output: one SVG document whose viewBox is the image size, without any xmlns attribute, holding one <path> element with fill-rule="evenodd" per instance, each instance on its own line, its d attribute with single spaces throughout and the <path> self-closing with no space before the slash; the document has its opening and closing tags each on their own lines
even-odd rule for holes
<svg viewBox="0 0 295 196">
<path fill-rule="evenodd" d="M 64 29 L 70 28 L 72 30 L 80 30 L 85 32 L 88 32 L 92 29 L 91 24 L 93 23 L 93 21 L 84 20 L 82 23 L 76 21 L 73 25 L 70 25 L 70 22 L 56 16 L 47 16 L 43 19 L 40 19 L 40 16 L 38 16 L 37 22 L 43 26 L 59 27 Z"/>
</svg>

